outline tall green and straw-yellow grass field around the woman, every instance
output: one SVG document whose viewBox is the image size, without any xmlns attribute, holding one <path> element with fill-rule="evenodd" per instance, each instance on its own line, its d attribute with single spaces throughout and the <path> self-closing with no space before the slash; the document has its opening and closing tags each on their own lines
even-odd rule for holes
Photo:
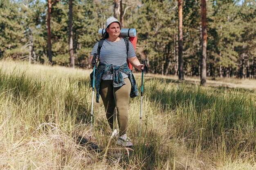
<svg viewBox="0 0 256 170">
<path fill-rule="evenodd" d="M 90 72 L 0 61 L 0 169 L 256 169 L 256 80 L 200 87 L 198 78 L 145 75 L 141 138 L 140 97 L 130 99 L 133 148 L 110 140 L 100 99 L 96 152 L 76 142 L 90 134 Z"/>
</svg>

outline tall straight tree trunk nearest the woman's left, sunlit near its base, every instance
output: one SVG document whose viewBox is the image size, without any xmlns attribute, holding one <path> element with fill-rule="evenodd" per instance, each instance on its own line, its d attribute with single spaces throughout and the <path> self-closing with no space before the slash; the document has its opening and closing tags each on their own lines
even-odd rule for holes
<svg viewBox="0 0 256 170">
<path fill-rule="evenodd" d="M 74 50 L 73 50 L 73 24 L 72 24 L 72 20 L 73 20 L 73 11 L 72 11 L 72 0 L 69 1 L 69 14 L 68 14 L 68 19 L 69 19 L 69 23 L 68 23 L 68 29 L 69 29 L 69 51 L 70 51 L 70 67 L 75 68 L 75 59 L 74 59 Z"/>
</svg>

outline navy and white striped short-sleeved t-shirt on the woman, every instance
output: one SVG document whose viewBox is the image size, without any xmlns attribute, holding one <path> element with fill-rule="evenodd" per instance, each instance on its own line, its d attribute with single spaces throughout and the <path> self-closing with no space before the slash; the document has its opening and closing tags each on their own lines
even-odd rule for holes
<svg viewBox="0 0 256 170">
<path fill-rule="evenodd" d="M 98 45 L 99 42 L 97 42 L 90 55 L 93 56 L 94 53 L 97 53 L 98 50 Z M 121 38 L 117 42 L 112 42 L 107 39 L 104 40 L 102 47 L 101 47 L 101 52 L 99 55 L 100 62 L 103 64 L 113 64 L 114 66 L 121 66 L 125 63 L 127 63 L 127 58 L 130 57 L 136 57 L 135 50 L 132 46 L 132 43 L 129 41 L 129 50 L 128 50 L 128 55 L 126 53 L 126 44 L 124 41 L 124 38 Z M 125 73 L 122 73 L 123 78 L 127 78 L 128 75 Z M 102 79 L 113 79 L 113 75 L 103 75 Z"/>
</svg>

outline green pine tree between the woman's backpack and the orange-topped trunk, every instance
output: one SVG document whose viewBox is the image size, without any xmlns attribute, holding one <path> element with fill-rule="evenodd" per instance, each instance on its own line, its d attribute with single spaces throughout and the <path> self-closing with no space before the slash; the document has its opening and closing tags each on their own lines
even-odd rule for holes
<svg viewBox="0 0 256 170">
<path fill-rule="evenodd" d="M 127 14 L 124 24 L 137 29 L 138 42 L 137 54 L 139 57 L 148 60 L 148 66 L 152 73 L 168 74 L 173 68 L 173 34 L 175 31 L 175 2 L 142 0 L 138 11 Z M 138 15 L 137 15 L 138 13 Z M 126 18 L 125 17 L 125 18 Z M 177 27 L 176 27 L 177 28 Z"/>
</svg>

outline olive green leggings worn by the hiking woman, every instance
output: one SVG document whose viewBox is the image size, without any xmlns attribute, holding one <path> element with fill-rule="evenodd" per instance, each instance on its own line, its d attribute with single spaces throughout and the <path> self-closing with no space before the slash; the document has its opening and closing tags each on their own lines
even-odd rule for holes
<svg viewBox="0 0 256 170">
<path fill-rule="evenodd" d="M 115 107 L 117 107 L 117 121 L 119 135 L 126 134 L 128 124 L 128 105 L 130 100 L 131 83 L 130 79 L 124 79 L 125 85 L 114 88 L 113 80 L 101 80 L 99 94 L 105 106 L 108 124 L 113 130 L 115 124 Z"/>
</svg>

